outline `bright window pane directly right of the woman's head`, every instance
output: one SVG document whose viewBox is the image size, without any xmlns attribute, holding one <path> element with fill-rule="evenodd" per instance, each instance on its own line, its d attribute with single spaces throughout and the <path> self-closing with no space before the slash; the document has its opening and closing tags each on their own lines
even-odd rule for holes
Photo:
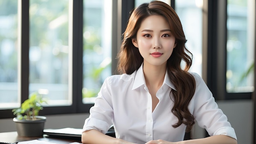
<svg viewBox="0 0 256 144">
<path fill-rule="evenodd" d="M 202 0 L 176 0 L 175 11 L 180 17 L 187 39 L 186 48 L 193 54 L 190 71 L 202 76 Z"/>
</svg>

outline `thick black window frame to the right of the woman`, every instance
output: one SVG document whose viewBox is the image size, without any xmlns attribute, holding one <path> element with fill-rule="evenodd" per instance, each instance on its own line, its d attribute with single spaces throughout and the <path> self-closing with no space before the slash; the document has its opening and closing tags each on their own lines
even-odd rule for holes
<svg viewBox="0 0 256 144">
<path fill-rule="evenodd" d="M 227 0 L 208 0 L 207 85 L 216 100 L 252 99 L 253 92 L 228 93 Z"/>
</svg>

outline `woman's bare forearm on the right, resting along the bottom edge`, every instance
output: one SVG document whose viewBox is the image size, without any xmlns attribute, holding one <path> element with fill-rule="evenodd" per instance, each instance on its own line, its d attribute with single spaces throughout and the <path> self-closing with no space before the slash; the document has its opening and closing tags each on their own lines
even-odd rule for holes
<svg viewBox="0 0 256 144">
<path fill-rule="evenodd" d="M 162 143 L 161 143 L 162 142 Z M 213 135 L 195 140 L 184 140 L 182 142 L 167 142 L 163 140 L 151 140 L 146 144 L 237 144 L 236 139 L 226 135 Z"/>
</svg>

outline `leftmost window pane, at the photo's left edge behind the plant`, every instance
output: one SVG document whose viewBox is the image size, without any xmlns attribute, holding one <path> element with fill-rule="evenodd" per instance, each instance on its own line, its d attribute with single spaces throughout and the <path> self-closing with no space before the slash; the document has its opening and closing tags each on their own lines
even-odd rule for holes
<svg viewBox="0 0 256 144">
<path fill-rule="evenodd" d="M 0 0 L 0 109 L 20 106 L 17 12 L 17 0 Z"/>
</svg>

